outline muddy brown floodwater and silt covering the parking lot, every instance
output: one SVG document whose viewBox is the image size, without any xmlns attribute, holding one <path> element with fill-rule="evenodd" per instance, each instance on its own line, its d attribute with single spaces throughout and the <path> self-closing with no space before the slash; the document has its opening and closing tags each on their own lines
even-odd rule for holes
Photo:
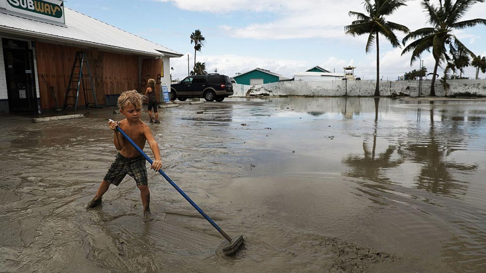
<svg viewBox="0 0 486 273">
<path fill-rule="evenodd" d="M 127 177 L 86 211 L 116 150 L 106 119 L 2 120 L 1 272 L 485 272 L 486 103 L 233 99 L 160 110 L 153 222 Z M 203 111 L 203 114 L 197 114 Z M 145 119 L 148 119 L 145 113 Z M 145 151 L 151 154 L 150 148 Z"/>
</svg>

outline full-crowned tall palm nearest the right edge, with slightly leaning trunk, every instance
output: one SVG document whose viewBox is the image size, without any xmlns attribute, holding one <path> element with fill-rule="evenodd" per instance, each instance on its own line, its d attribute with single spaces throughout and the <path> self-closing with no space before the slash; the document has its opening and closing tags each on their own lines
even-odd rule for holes
<svg viewBox="0 0 486 273">
<path fill-rule="evenodd" d="M 410 65 L 412 65 L 421 53 L 430 51 L 432 48 L 435 66 L 430 87 L 430 96 L 435 96 L 434 83 L 437 67 L 442 61 L 450 62 L 451 57 L 457 56 L 457 52 L 465 52 L 471 56 L 474 55 L 452 34 L 452 31 L 465 29 L 478 24 L 486 25 L 486 20 L 480 18 L 459 21 L 469 7 L 476 2 L 484 2 L 484 0 L 456 0 L 455 2 L 453 0 L 439 0 L 438 6 L 431 4 L 429 0 L 422 0 L 422 7 L 428 12 L 428 22 L 432 24 L 432 27 L 418 29 L 403 38 L 403 45 L 408 40 L 417 39 L 405 47 L 401 53 L 403 55 L 406 52 L 412 51 Z"/>
</svg>

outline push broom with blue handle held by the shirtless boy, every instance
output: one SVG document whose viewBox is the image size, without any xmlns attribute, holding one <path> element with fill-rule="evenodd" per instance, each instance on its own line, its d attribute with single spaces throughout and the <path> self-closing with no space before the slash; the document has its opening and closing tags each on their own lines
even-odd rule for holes
<svg viewBox="0 0 486 273">
<path fill-rule="evenodd" d="M 114 120 L 112 119 L 109 119 L 111 122 L 115 122 Z M 133 142 L 133 140 L 127 136 L 125 134 L 125 132 L 123 132 L 123 130 L 121 130 L 120 126 L 117 127 L 117 131 L 120 132 L 121 135 L 123 135 L 132 145 L 135 149 L 137 149 L 137 151 L 139 151 L 140 154 L 143 155 L 143 157 L 145 157 L 145 159 L 152 165 L 152 163 L 154 163 L 154 161 L 152 161 L 152 159 L 150 159 L 150 157 L 148 157 L 147 154 L 145 154 L 142 149 L 140 149 L 140 147 L 135 144 L 135 142 Z M 219 232 L 221 233 L 221 235 L 223 235 L 223 237 L 227 240 L 224 241 L 221 246 L 216 250 L 217 252 L 221 251 L 223 252 L 223 254 L 225 255 L 232 255 L 232 254 L 235 254 L 239 247 L 243 244 L 243 235 L 240 235 L 238 236 L 237 238 L 235 239 L 231 239 L 231 237 L 229 237 L 226 232 L 224 230 L 221 229 L 221 227 L 219 227 L 198 205 L 196 205 L 196 203 L 194 203 L 191 198 L 189 198 L 189 196 L 187 196 L 187 194 L 181 189 L 179 188 L 175 183 L 174 181 L 172 181 L 172 179 L 167 176 L 167 174 L 165 174 L 165 172 L 163 172 L 162 170 L 159 170 L 158 171 L 160 174 L 162 174 L 162 176 L 172 185 L 172 187 L 174 187 L 186 200 L 187 202 L 189 202 L 189 204 L 191 204 L 206 220 L 208 220 L 208 222 Z"/>
</svg>

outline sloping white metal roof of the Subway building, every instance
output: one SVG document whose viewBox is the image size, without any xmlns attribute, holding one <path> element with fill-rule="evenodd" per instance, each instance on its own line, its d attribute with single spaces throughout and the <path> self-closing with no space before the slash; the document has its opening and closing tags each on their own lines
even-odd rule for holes
<svg viewBox="0 0 486 273">
<path fill-rule="evenodd" d="M 66 25 L 20 17 L 0 10 L 0 32 L 141 55 L 180 57 L 173 51 L 100 20 L 64 7 Z"/>
</svg>

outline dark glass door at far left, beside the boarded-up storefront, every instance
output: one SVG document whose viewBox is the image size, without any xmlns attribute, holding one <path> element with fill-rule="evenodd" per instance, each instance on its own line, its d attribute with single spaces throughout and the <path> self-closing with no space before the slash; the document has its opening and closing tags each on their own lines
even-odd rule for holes
<svg viewBox="0 0 486 273">
<path fill-rule="evenodd" d="M 2 39 L 10 112 L 35 112 L 34 57 L 27 41 Z"/>
</svg>

